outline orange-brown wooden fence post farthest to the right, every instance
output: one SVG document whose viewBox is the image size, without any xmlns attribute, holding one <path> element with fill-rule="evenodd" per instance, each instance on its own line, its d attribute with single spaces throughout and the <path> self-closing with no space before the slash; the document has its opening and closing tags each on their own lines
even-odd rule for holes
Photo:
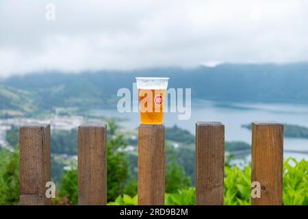
<svg viewBox="0 0 308 219">
<path fill-rule="evenodd" d="M 283 125 L 253 123 L 251 181 L 261 184 L 261 198 L 252 205 L 282 205 L 283 196 Z"/>
</svg>

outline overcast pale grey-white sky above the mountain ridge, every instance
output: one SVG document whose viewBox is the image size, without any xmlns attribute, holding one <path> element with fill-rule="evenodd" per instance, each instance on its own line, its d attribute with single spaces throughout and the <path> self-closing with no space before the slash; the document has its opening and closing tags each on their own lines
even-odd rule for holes
<svg viewBox="0 0 308 219">
<path fill-rule="evenodd" d="M 306 0 L 0 0 L 0 77 L 305 61 Z"/>
</svg>

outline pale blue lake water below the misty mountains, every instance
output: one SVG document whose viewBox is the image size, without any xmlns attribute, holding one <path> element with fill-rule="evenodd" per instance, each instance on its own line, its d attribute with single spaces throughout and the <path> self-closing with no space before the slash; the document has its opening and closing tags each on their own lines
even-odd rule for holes
<svg viewBox="0 0 308 219">
<path fill-rule="evenodd" d="M 138 104 L 138 103 L 134 103 Z M 138 113 L 119 113 L 115 110 L 92 110 L 97 116 L 117 116 L 127 118 L 120 123 L 123 127 L 134 129 L 140 124 Z M 189 120 L 179 120 L 177 113 L 165 113 L 164 125 L 177 125 L 191 133 L 198 121 L 218 121 L 224 124 L 226 141 L 244 141 L 251 144 L 251 131 L 241 125 L 252 121 L 275 121 L 308 127 L 308 105 L 287 103 L 225 103 L 217 101 L 194 101 Z M 284 149 L 298 151 L 285 152 L 285 157 L 308 159 L 308 139 L 284 138 Z M 300 153 L 303 152 L 303 153 Z M 250 155 L 245 155 L 250 159 Z"/>
</svg>

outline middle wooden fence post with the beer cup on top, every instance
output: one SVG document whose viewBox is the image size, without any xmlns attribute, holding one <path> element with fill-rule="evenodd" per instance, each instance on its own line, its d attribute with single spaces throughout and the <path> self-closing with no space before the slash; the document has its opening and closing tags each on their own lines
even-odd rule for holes
<svg viewBox="0 0 308 219">
<path fill-rule="evenodd" d="M 165 127 L 138 129 L 138 205 L 164 205 Z"/>
</svg>

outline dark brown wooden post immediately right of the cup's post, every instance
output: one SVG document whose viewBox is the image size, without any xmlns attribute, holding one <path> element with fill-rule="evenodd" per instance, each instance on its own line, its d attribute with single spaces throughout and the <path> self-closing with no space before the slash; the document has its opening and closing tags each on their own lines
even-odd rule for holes
<svg viewBox="0 0 308 219">
<path fill-rule="evenodd" d="M 196 123 L 196 205 L 224 203 L 224 125 Z"/>
</svg>

